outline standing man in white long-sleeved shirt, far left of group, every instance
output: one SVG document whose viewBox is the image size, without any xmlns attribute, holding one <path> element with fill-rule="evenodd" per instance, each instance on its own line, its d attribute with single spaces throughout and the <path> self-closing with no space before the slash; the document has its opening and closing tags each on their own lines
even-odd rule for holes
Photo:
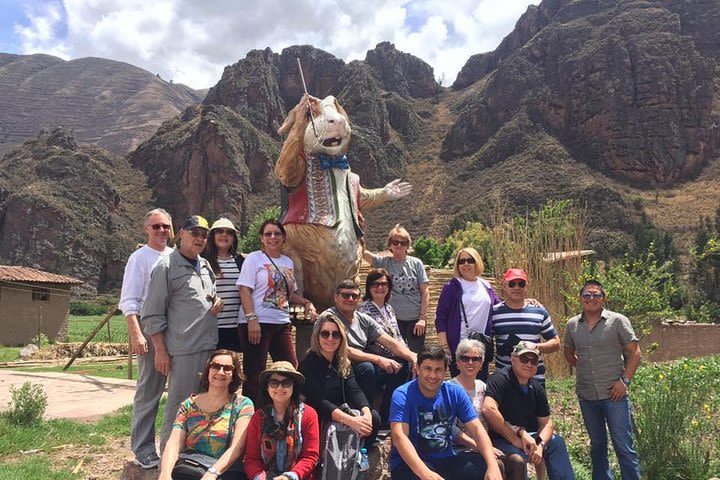
<svg viewBox="0 0 720 480">
<path fill-rule="evenodd" d="M 172 252 L 167 245 L 172 238 L 170 214 L 162 208 L 150 210 L 145 215 L 145 233 L 147 244 L 135 250 L 125 265 L 119 307 L 127 321 L 130 350 L 138 359 L 130 446 L 135 463 L 148 469 L 160 462 L 155 450 L 155 417 L 166 377 L 155 369 L 155 349 L 140 329 L 139 317 L 147 296 L 150 272 L 160 257 Z"/>
</svg>

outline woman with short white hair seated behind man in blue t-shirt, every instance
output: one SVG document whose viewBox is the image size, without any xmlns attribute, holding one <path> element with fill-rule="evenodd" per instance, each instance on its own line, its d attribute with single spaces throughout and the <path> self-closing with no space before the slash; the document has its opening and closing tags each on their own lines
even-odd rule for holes
<svg viewBox="0 0 720 480">
<path fill-rule="evenodd" d="M 483 401 L 485 401 L 485 382 L 477 378 L 478 373 L 483 367 L 485 360 L 485 345 L 479 340 L 465 339 L 461 340 L 455 350 L 455 358 L 460 373 L 451 379 L 453 383 L 457 383 L 468 394 L 472 401 L 473 407 L 478 414 L 480 422 L 488 429 L 488 424 L 482 414 Z M 462 431 L 460 426 L 456 426 L 455 441 L 461 445 L 475 449 L 472 439 Z M 500 471 L 503 472 L 503 478 L 507 480 L 524 480 L 525 479 L 525 462 L 518 458 L 505 457 L 502 451 L 495 449 L 495 455 L 498 458 Z"/>
</svg>

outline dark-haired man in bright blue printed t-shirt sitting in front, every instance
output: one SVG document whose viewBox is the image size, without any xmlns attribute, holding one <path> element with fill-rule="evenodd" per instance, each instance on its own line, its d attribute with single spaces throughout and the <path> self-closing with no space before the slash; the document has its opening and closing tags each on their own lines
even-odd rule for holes
<svg viewBox="0 0 720 480">
<path fill-rule="evenodd" d="M 417 356 L 417 378 L 395 390 L 390 405 L 390 474 L 393 480 L 500 480 L 485 429 L 459 385 L 445 382 L 448 357 L 437 345 Z M 480 453 L 456 453 L 452 426 L 464 423 Z"/>
</svg>

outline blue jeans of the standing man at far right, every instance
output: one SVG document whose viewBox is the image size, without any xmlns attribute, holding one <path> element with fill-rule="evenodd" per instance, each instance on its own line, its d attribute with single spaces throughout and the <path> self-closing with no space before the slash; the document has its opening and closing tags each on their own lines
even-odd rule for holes
<svg viewBox="0 0 720 480">
<path fill-rule="evenodd" d="M 590 436 L 590 458 L 593 463 L 593 480 L 612 480 L 607 456 L 607 429 L 620 464 L 622 480 L 640 480 L 640 460 L 633 448 L 630 399 L 625 395 L 618 401 L 583 400 L 580 411 Z"/>
</svg>

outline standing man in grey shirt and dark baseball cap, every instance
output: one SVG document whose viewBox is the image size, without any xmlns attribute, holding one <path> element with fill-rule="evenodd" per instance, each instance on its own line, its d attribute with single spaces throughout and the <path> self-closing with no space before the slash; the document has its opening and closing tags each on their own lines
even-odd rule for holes
<svg viewBox="0 0 720 480">
<path fill-rule="evenodd" d="M 209 230 L 200 215 L 185 219 L 178 247 L 160 258 L 150 274 L 142 308 L 143 331 L 155 347 L 155 368 L 168 377 L 161 452 L 180 403 L 200 388 L 200 374 L 217 344 L 216 315 L 223 302 L 215 295 L 215 274 L 200 256 Z"/>
</svg>

